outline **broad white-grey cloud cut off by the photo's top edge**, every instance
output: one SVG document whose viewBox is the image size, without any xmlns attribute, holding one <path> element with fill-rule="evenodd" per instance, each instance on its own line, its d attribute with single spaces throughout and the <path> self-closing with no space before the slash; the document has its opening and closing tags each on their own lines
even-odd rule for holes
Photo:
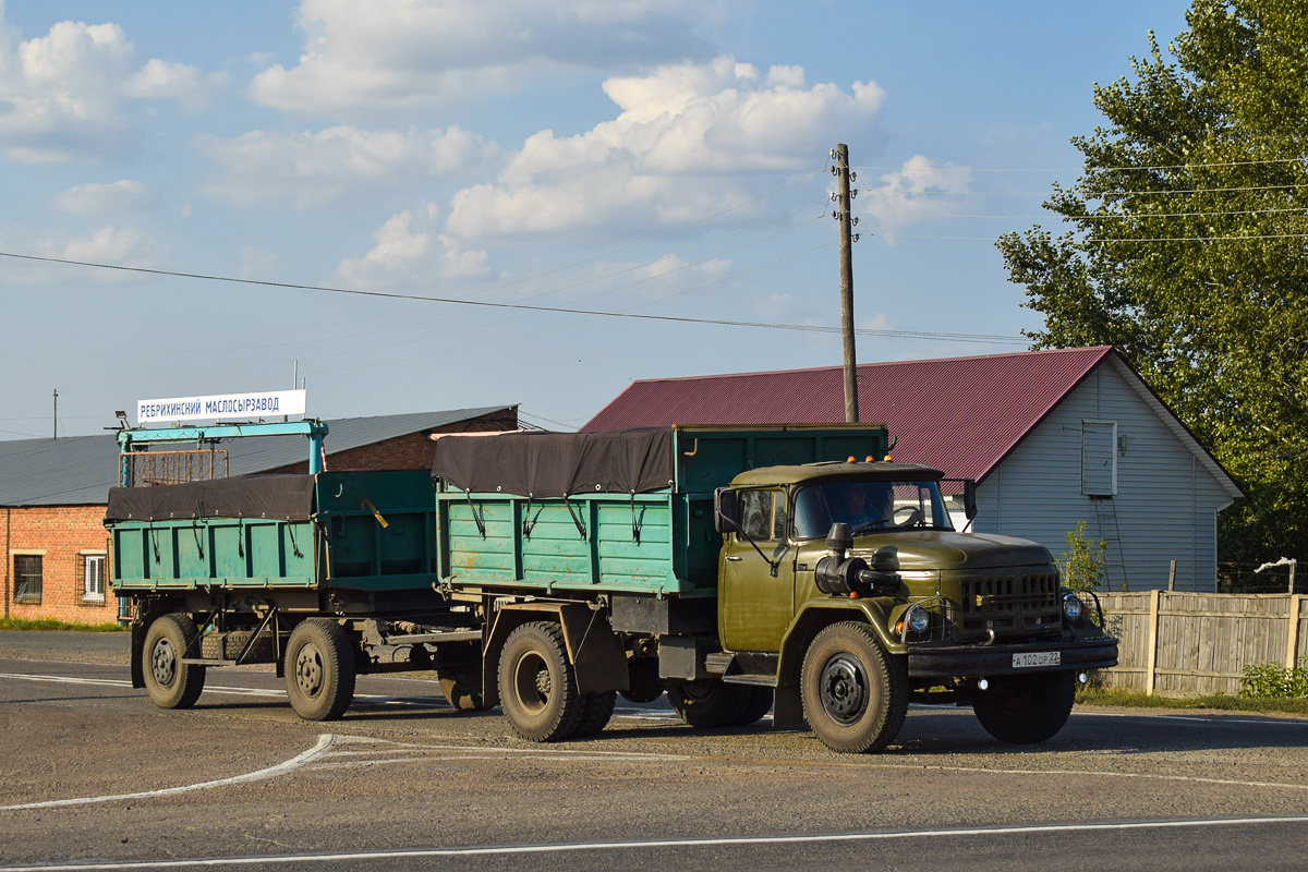
<svg viewBox="0 0 1308 872">
<path fill-rule="evenodd" d="M 704 56 L 698 24 L 721 0 L 302 0 L 305 51 L 250 84 L 254 102 L 375 118 L 578 68 Z"/>
</svg>

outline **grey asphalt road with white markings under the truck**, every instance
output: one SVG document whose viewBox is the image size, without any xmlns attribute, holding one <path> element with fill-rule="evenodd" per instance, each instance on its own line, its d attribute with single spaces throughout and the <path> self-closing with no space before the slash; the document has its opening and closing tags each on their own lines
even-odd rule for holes
<svg viewBox="0 0 1308 872">
<path fill-rule="evenodd" d="M 164 711 L 126 656 L 126 634 L 0 633 L 0 871 L 1308 865 L 1303 719 L 1078 709 L 1011 748 L 913 709 L 852 757 L 620 701 L 603 735 L 535 745 L 415 679 L 361 677 L 313 724 L 271 669 L 212 671 Z"/>
</svg>

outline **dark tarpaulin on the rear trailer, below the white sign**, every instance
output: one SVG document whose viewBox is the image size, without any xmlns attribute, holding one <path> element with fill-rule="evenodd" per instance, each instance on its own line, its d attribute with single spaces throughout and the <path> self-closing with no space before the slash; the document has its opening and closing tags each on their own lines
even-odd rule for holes
<svg viewBox="0 0 1308 872">
<path fill-rule="evenodd" d="M 150 488 L 110 488 L 105 520 L 275 518 L 307 520 L 314 476 L 237 476 Z"/>
</svg>

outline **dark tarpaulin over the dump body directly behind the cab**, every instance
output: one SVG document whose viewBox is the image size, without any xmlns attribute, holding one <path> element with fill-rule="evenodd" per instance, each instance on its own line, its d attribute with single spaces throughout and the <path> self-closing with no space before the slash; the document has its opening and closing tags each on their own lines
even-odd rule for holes
<svg viewBox="0 0 1308 872">
<path fill-rule="evenodd" d="M 442 435 L 432 477 L 521 497 L 649 493 L 672 486 L 672 430 Z"/>
</svg>

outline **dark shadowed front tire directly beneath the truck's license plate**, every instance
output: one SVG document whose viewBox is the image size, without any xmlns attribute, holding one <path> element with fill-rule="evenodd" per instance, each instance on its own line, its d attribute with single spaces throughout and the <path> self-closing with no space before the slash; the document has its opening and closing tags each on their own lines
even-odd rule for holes
<svg viewBox="0 0 1308 872">
<path fill-rule="evenodd" d="M 1052 739 L 1062 729 L 1076 697 L 1074 672 L 1037 672 L 993 679 L 977 692 L 972 710 L 985 731 L 1015 745 Z"/>
</svg>

